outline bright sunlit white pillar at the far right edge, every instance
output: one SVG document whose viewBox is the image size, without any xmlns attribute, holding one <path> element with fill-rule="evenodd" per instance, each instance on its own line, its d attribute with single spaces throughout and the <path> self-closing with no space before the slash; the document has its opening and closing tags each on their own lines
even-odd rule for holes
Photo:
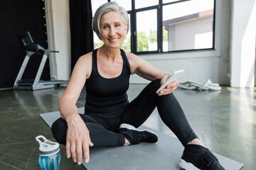
<svg viewBox="0 0 256 170">
<path fill-rule="evenodd" d="M 230 38 L 230 86 L 253 87 L 255 81 L 256 1 L 233 0 Z"/>
</svg>

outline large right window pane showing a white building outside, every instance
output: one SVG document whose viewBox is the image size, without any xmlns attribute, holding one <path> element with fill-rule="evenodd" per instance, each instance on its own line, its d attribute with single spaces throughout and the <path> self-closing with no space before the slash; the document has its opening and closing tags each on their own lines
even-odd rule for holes
<svg viewBox="0 0 256 170">
<path fill-rule="evenodd" d="M 162 23 L 168 32 L 163 51 L 213 48 L 213 0 L 164 5 Z"/>
</svg>

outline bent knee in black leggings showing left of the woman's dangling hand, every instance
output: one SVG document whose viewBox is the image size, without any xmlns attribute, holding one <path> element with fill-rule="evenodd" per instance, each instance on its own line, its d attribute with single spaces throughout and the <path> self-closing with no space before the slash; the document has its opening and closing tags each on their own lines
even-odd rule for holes
<svg viewBox="0 0 256 170">
<path fill-rule="evenodd" d="M 63 145 L 65 145 L 65 142 L 66 142 L 67 130 L 68 130 L 68 125 L 63 118 L 58 118 L 57 120 L 55 120 L 55 122 L 51 126 L 53 137 L 58 143 Z"/>
</svg>

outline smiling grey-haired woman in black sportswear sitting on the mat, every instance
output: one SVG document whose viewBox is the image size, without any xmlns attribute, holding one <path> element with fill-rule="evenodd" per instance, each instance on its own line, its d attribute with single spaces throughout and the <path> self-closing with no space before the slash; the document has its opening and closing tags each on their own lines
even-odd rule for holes
<svg viewBox="0 0 256 170">
<path fill-rule="evenodd" d="M 223 169 L 191 129 L 181 106 L 172 94 L 178 81 L 156 94 L 169 77 L 140 57 L 120 50 L 129 29 L 127 11 L 115 2 L 103 4 L 95 12 L 92 28 L 104 45 L 83 55 L 75 64 L 65 93 L 60 98 L 61 117 L 53 123 L 55 140 L 66 145 L 73 162 L 89 162 L 89 147 L 136 145 L 157 142 L 157 136 L 137 128 L 158 108 L 164 123 L 185 147 L 180 166 L 183 169 Z M 127 100 L 130 74 L 151 81 L 130 102 Z M 75 103 L 86 87 L 85 113 L 78 114 Z M 193 157 L 193 159 L 192 159 Z M 203 160 L 203 161 L 202 161 Z"/>
</svg>

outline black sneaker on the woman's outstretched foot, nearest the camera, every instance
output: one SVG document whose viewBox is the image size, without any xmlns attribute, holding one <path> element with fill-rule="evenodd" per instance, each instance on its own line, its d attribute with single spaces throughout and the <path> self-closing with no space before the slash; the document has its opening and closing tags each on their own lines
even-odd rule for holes
<svg viewBox="0 0 256 170">
<path fill-rule="evenodd" d="M 178 164 L 186 170 L 225 170 L 213 153 L 201 145 L 186 145 Z"/>
</svg>

